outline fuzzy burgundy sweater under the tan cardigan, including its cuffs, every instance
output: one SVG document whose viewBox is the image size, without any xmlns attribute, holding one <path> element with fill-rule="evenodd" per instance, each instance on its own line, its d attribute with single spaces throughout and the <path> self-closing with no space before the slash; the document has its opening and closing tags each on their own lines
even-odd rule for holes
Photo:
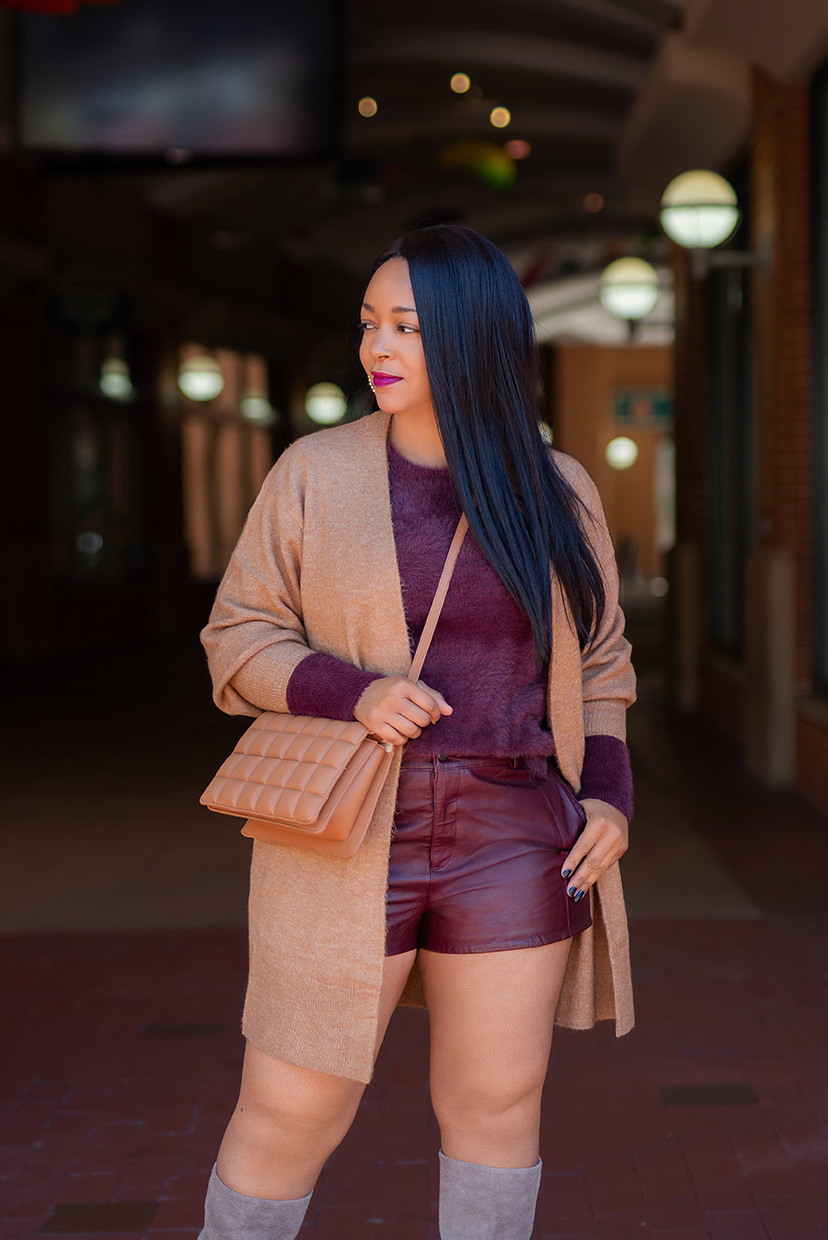
<svg viewBox="0 0 828 1240">
<path fill-rule="evenodd" d="M 412 652 L 436 590 L 460 518 L 447 469 L 416 465 L 388 444 L 390 505 L 403 604 Z M 288 683 L 294 714 L 352 719 L 361 693 L 378 673 L 317 652 L 304 658 Z M 542 771 L 554 754 L 545 728 L 547 670 L 534 657 L 527 614 L 466 534 L 451 578 L 423 681 L 454 713 L 407 744 L 407 751 L 523 758 Z M 630 755 L 615 737 L 586 737 L 580 797 L 597 797 L 632 816 Z"/>
</svg>

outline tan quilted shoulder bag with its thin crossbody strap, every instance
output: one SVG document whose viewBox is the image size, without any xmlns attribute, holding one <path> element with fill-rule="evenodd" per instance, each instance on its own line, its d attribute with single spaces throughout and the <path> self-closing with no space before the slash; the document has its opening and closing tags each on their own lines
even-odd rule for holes
<svg viewBox="0 0 828 1240">
<path fill-rule="evenodd" d="M 419 678 L 469 522 L 461 516 L 414 652 Z M 247 818 L 242 835 L 336 857 L 362 843 L 394 755 L 356 719 L 265 711 L 247 729 L 205 790 L 201 804 Z"/>
</svg>

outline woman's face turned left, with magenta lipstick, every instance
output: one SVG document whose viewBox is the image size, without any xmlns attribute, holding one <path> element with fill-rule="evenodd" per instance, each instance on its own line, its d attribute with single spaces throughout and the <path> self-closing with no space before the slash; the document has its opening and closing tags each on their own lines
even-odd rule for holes
<svg viewBox="0 0 828 1240">
<path fill-rule="evenodd" d="M 359 361 L 384 413 L 434 413 L 408 263 L 390 258 L 372 277 L 361 314 Z"/>
</svg>

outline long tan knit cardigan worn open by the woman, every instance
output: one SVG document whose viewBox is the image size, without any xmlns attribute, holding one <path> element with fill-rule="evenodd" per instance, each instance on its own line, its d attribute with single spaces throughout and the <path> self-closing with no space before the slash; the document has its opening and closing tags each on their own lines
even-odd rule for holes
<svg viewBox="0 0 828 1240">
<path fill-rule="evenodd" d="M 250 510 L 202 634 L 214 699 L 229 714 L 286 711 L 296 665 L 312 650 L 359 667 L 407 672 L 410 650 L 388 491 L 389 419 L 374 413 L 317 432 L 276 461 Z M 555 454 L 591 513 L 588 533 L 606 587 L 604 621 L 581 657 L 553 590 L 548 717 L 558 761 L 578 790 L 584 735 L 625 737 L 635 699 L 617 574 L 595 485 Z M 588 522 L 588 526 L 590 522 Z M 238 675 L 250 699 L 233 678 Z M 371 1080 L 384 961 L 388 848 L 399 753 L 358 853 L 342 859 L 255 843 L 244 1034 L 268 1054 Z M 416 968 L 403 1002 L 421 1003 Z M 627 923 L 617 864 L 592 888 L 592 928 L 579 935 L 558 1007 L 575 1029 L 633 1022 Z"/>
</svg>

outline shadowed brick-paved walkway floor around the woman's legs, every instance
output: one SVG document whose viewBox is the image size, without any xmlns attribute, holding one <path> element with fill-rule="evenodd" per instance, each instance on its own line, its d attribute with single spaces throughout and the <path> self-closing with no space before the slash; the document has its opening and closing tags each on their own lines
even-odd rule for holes
<svg viewBox="0 0 828 1240">
<path fill-rule="evenodd" d="M 826 1238 L 828 821 L 666 717 L 642 662 L 637 1025 L 557 1037 L 538 1236 Z M 0 1240 L 191 1240 L 238 1084 L 249 847 L 195 802 L 243 724 L 211 712 L 188 647 L 7 687 Z M 394 1018 L 304 1240 L 436 1240 L 426 1033 Z"/>
</svg>

